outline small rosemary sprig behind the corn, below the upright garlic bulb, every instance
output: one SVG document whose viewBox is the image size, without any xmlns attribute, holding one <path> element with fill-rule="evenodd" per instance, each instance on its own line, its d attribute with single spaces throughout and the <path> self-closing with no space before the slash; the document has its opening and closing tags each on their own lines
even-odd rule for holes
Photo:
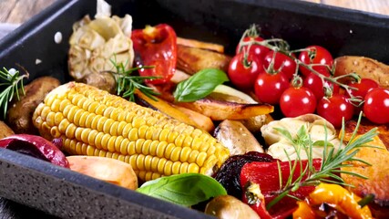
<svg viewBox="0 0 389 219">
<path fill-rule="evenodd" d="M 115 77 L 115 80 L 117 82 L 116 90 L 119 96 L 122 96 L 125 99 L 129 99 L 130 101 L 135 101 L 135 90 L 138 89 L 140 92 L 148 96 L 148 98 L 156 100 L 154 96 L 159 95 L 159 93 L 155 92 L 154 89 L 144 85 L 144 82 L 148 79 L 155 79 L 159 77 L 132 75 L 134 71 L 138 71 L 139 69 L 145 68 L 154 68 L 153 66 L 126 69 L 128 66 L 128 62 L 118 63 L 116 56 L 114 56 L 114 59 L 110 59 L 110 62 L 116 68 L 116 71 L 107 72 L 111 73 Z"/>
</svg>

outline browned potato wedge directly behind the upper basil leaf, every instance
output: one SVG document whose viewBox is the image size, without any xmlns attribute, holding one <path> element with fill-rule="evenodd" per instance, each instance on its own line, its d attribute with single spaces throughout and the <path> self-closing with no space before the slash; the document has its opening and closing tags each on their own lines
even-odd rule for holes
<svg viewBox="0 0 389 219">
<path fill-rule="evenodd" d="M 177 68 L 190 75 L 204 68 L 227 72 L 231 57 L 209 50 L 177 45 Z"/>
</svg>

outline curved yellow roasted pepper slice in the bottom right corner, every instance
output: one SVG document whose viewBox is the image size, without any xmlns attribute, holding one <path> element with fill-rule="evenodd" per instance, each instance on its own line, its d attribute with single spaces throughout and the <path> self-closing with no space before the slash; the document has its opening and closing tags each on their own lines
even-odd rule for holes
<svg viewBox="0 0 389 219">
<path fill-rule="evenodd" d="M 320 183 L 312 193 L 309 194 L 307 204 L 299 203 L 299 208 L 293 213 L 293 218 L 307 218 L 307 212 L 320 213 L 319 210 L 314 211 L 314 207 L 322 203 L 327 203 L 342 214 L 354 219 L 366 219 L 373 218 L 369 207 L 359 205 L 361 197 L 354 193 L 349 192 L 338 184 Z M 311 206 L 310 206 L 311 205 Z M 313 209 L 313 211 L 312 211 Z M 318 215 L 314 213 L 309 214 L 309 218 L 318 218 Z M 312 217 L 313 216 L 313 217 Z"/>
</svg>

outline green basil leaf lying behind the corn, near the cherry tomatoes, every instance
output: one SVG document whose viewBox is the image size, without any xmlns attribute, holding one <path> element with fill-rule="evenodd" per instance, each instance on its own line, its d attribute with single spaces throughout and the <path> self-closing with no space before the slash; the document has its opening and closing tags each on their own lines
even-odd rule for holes
<svg viewBox="0 0 389 219">
<path fill-rule="evenodd" d="M 229 81 L 220 69 L 202 69 L 192 77 L 179 82 L 174 91 L 174 99 L 179 102 L 192 102 L 209 95 L 218 85 Z"/>
</svg>

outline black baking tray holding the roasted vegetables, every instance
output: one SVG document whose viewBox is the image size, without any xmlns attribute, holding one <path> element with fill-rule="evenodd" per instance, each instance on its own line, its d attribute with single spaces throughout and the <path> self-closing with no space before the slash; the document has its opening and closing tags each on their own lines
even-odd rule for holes
<svg viewBox="0 0 389 219">
<path fill-rule="evenodd" d="M 373 57 L 389 63 L 389 17 L 302 1 L 112 0 L 113 14 L 133 17 L 133 27 L 168 23 L 179 36 L 223 44 L 232 54 L 244 29 L 255 23 L 264 37 L 282 37 L 292 48 L 321 45 L 333 56 Z M 56 3 L 0 40 L 0 64 L 26 68 L 29 80 L 67 74 L 72 24 L 96 12 L 95 0 Z M 60 32 L 62 42 L 54 36 Z M 0 150 L 0 196 L 63 218 L 206 218 L 97 181 L 14 151 Z"/>
</svg>

